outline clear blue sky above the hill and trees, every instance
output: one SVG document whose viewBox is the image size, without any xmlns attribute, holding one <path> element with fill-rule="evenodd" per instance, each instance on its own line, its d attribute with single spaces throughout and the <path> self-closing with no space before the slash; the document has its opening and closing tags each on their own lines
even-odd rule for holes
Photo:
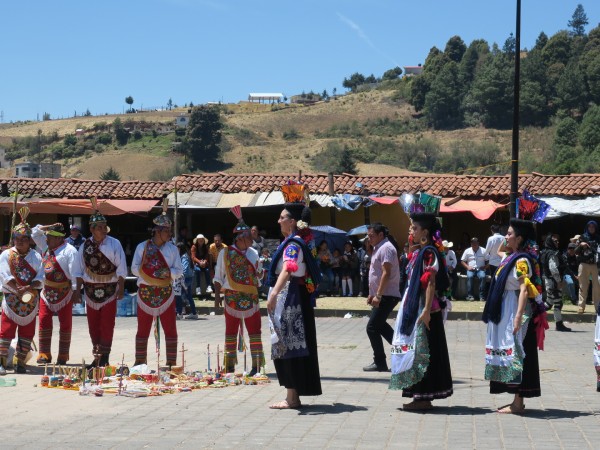
<svg viewBox="0 0 600 450">
<path fill-rule="evenodd" d="M 523 0 L 522 47 L 567 29 L 578 3 Z M 516 0 L 60 0 L 5 2 L 0 26 L 4 122 L 238 102 L 250 92 L 344 92 L 354 72 L 423 63 L 459 35 L 504 43 Z"/>
</svg>

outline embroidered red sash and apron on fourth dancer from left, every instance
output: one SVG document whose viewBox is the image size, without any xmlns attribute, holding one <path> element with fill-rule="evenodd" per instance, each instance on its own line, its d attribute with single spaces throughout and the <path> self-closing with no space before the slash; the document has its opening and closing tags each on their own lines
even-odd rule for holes
<svg viewBox="0 0 600 450">
<path fill-rule="evenodd" d="M 171 269 L 160 249 L 151 239 L 146 242 L 140 277 L 146 282 L 138 288 L 138 306 L 153 317 L 164 313 L 175 299 Z"/>
</svg>

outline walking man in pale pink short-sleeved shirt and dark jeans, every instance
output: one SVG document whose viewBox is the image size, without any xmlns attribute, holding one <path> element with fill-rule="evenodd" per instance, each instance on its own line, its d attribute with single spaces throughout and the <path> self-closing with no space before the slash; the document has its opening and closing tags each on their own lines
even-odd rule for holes
<svg viewBox="0 0 600 450">
<path fill-rule="evenodd" d="M 400 301 L 400 263 L 398 249 L 388 229 L 381 223 L 368 227 L 367 238 L 373 246 L 369 268 L 369 297 L 371 316 L 367 324 L 367 335 L 373 348 L 373 363 L 363 367 L 365 372 L 387 372 L 386 352 L 382 337 L 390 344 L 394 329 L 387 322 L 390 312 Z"/>
</svg>

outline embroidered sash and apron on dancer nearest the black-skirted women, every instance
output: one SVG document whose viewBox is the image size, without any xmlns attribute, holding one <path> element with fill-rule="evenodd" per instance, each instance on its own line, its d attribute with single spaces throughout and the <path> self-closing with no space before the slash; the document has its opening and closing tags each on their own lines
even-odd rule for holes
<svg viewBox="0 0 600 450">
<path fill-rule="evenodd" d="M 259 310 L 256 267 L 235 247 L 223 250 L 225 273 L 231 289 L 223 289 L 225 310 L 230 316 L 244 319 Z"/>
</svg>

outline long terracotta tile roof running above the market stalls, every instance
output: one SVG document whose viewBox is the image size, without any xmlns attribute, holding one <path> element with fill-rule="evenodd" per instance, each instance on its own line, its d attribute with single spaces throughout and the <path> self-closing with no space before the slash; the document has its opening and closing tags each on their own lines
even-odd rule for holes
<svg viewBox="0 0 600 450">
<path fill-rule="evenodd" d="M 0 178 L 9 192 L 16 184 L 26 196 L 55 198 L 160 199 L 175 185 L 179 192 L 269 192 L 278 191 L 289 179 L 298 174 L 228 174 L 179 175 L 171 181 L 103 181 L 48 178 Z M 329 193 L 327 174 L 304 174 L 311 193 Z M 356 184 L 361 183 L 362 188 Z M 600 192 L 600 174 L 519 176 L 520 190 L 528 189 L 534 195 L 587 196 Z M 426 191 L 443 197 L 505 199 L 510 193 L 510 176 L 473 175 L 335 175 L 336 193 L 383 194 L 399 196 L 404 192 Z"/>
</svg>

